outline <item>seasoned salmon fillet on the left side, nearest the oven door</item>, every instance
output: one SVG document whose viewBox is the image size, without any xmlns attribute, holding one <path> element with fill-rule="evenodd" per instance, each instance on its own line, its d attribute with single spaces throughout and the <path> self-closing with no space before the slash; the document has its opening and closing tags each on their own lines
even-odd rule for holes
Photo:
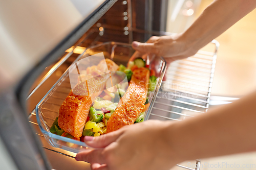
<svg viewBox="0 0 256 170">
<path fill-rule="evenodd" d="M 85 78 L 91 79 L 77 84 L 59 108 L 59 127 L 75 138 L 82 136 L 83 127 L 86 124 L 92 101 L 95 100 L 105 87 L 109 73 L 104 73 L 116 71 L 119 68 L 119 66 L 110 59 L 105 59 L 105 62 L 108 66 L 108 70 L 106 68 L 102 69 L 104 68 L 102 67 L 104 60 L 96 66 L 97 69 L 95 69 L 95 66 L 92 66 L 91 69 L 88 68 L 88 75 L 83 77 L 83 80 L 86 80 Z"/>
</svg>

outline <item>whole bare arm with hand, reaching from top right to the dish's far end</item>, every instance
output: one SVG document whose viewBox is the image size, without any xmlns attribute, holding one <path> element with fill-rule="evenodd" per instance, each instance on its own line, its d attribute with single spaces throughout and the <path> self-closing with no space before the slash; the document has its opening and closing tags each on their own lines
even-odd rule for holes
<svg viewBox="0 0 256 170">
<path fill-rule="evenodd" d="M 194 55 L 200 48 L 256 8 L 255 0 L 217 0 L 209 5 L 184 33 L 151 37 L 147 43 L 133 42 L 135 50 L 154 53 L 168 61 Z"/>
</svg>

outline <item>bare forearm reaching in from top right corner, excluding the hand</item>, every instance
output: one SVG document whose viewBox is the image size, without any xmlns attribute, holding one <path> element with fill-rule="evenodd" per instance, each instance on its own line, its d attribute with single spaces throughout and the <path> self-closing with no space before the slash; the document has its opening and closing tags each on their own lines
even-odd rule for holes
<svg viewBox="0 0 256 170">
<path fill-rule="evenodd" d="M 255 8 L 255 0 L 214 1 L 183 33 L 186 48 L 198 51 Z"/>
</svg>

